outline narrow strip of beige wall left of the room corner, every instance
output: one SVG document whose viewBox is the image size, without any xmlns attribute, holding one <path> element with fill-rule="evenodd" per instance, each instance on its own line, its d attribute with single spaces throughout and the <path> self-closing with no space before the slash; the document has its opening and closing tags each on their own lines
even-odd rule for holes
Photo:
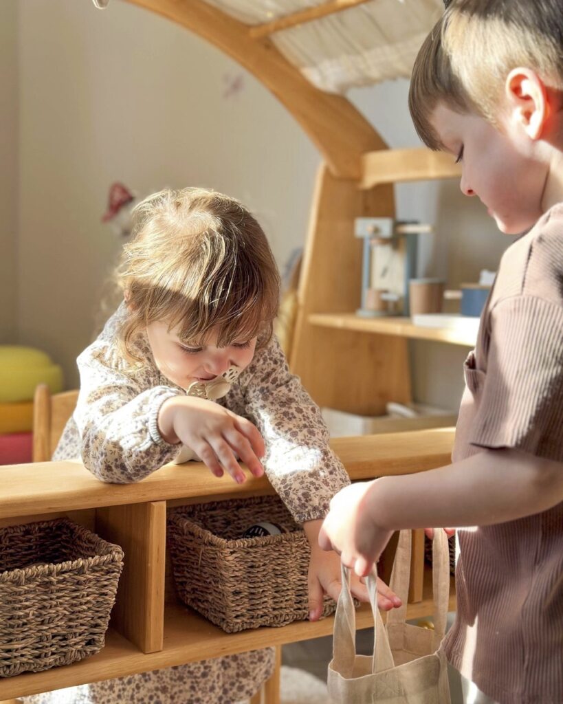
<svg viewBox="0 0 563 704">
<path fill-rule="evenodd" d="M 15 0 L 0 3 L 0 344 L 17 340 L 18 44 Z"/>
</svg>

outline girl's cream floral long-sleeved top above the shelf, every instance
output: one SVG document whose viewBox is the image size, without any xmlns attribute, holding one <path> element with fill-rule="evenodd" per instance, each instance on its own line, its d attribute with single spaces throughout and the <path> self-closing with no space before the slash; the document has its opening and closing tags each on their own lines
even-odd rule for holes
<svg viewBox="0 0 563 704">
<path fill-rule="evenodd" d="M 80 456 L 103 482 L 139 482 L 171 462 L 181 445 L 158 433 L 157 415 L 170 396 L 184 394 L 156 367 L 145 337 L 135 341 L 141 365 L 115 344 L 127 309 L 122 304 L 78 358 L 80 395 L 53 459 Z M 275 338 L 258 351 L 220 403 L 251 420 L 265 440 L 268 479 L 298 523 L 322 518 L 350 480 L 329 448 L 320 410 L 289 372 Z"/>
</svg>

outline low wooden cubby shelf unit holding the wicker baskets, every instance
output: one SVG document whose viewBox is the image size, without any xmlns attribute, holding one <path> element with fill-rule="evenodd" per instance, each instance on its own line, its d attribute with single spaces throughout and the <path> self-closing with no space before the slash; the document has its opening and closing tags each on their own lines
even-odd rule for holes
<svg viewBox="0 0 563 704">
<path fill-rule="evenodd" d="M 332 441 L 353 480 L 445 465 L 452 444 L 453 429 Z M 77 462 L 0 467 L 0 527 L 67 515 L 118 543 L 125 552 L 118 598 L 101 652 L 72 665 L 0 679 L 0 700 L 331 634 L 332 617 L 226 634 L 174 598 L 165 598 L 170 593 L 170 585 L 165 584 L 166 508 L 274 494 L 267 479 L 247 476 L 239 486 L 229 477 L 217 479 L 203 465 L 190 463 L 166 465 L 139 484 L 117 485 L 99 482 Z M 424 562 L 414 566 L 422 599 L 409 605 L 410 618 L 432 612 Z M 454 597 L 451 601 L 455 608 Z M 371 626 L 371 620 L 369 608 L 362 606 L 358 627 Z"/>
</svg>

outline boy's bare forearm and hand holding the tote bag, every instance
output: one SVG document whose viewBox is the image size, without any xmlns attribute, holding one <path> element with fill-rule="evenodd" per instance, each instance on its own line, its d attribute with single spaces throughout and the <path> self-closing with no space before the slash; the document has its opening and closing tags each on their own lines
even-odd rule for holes
<svg viewBox="0 0 563 704">
<path fill-rule="evenodd" d="M 504 523 L 561 501 L 563 463 L 484 450 L 429 472 L 347 486 L 331 501 L 319 544 L 341 553 L 343 564 L 363 577 L 395 530 Z"/>
</svg>

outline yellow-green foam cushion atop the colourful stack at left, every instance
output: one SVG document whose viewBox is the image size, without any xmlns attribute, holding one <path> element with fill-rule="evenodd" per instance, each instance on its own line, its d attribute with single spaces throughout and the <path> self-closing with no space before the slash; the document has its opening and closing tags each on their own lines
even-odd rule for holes
<svg viewBox="0 0 563 704">
<path fill-rule="evenodd" d="M 51 394 L 63 388 L 63 370 L 49 355 L 32 347 L 0 345 L 0 403 L 31 401 L 41 383 Z"/>
</svg>

